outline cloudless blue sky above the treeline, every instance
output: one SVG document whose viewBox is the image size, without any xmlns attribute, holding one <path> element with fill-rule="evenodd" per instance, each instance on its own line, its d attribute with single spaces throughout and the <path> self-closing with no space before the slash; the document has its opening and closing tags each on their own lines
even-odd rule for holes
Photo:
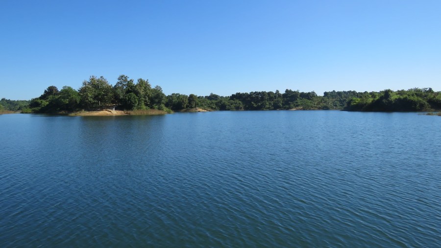
<svg viewBox="0 0 441 248">
<path fill-rule="evenodd" d="M 164 93 L 441 90 L 441 0 L 2 0 L 0 98 L 91 75 Z"/>
</svg>

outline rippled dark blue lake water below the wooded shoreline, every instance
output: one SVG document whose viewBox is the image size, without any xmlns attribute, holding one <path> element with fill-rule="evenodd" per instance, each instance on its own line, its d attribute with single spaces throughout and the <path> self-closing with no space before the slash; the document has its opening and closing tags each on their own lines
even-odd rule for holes
<svg viewBox="0 0 441 248">
<path fill-rule="evenodd" d="M 441 247 L 441 117 L 0 115 L 0 247 Z"/>
</svg>

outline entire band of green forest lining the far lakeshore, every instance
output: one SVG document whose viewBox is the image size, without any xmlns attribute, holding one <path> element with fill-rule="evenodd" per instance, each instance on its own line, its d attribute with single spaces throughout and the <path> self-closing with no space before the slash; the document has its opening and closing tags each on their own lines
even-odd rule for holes
<svg viewBox="0 0 441 248">
<path fill-rule="evenodd" d="M 431 88 L 383 90 L 380 92 L 299 90 L 254 91 L 220 96 L 196 96 L 172 93 L 165 95 L 160 86 L 151 87 L 148 80 L 136 82 L 121 75 L 112 86 L 104 77 L 91 76 L 75 90 L 49 86 L 30 101 L 1 99 L 0 109 L 23 113 L 71 113 L 116 106 L 120 110 L 156 109 L 165 112 L 201 108 L 206 110 L 346 110 L 346 111 L 430 111 L 441 109 L 441 92 Z"/>
</svg>

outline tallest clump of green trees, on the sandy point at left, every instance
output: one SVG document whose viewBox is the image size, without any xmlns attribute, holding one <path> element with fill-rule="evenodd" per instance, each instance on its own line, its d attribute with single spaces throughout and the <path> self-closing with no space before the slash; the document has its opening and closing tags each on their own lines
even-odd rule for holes
<svg viewBox="0 0 441 248">
<path fill-rule="evenodd" d="M 78 90 L 69 86 L 62 90 L 49 86 L 41 96 L 30 101 L 29 108 L 32 113 L 75 113 L 116 106 L 121 110 L 137 111 L 130 114 L 171 113 L 165 106 L 166 99 L 161 87 L 151 88 L 148 80 L 142 78 L 135 84 L 133 79 L 121 75 L 112 87 L 104 77 L 91 76 Z"/>
</svg>

